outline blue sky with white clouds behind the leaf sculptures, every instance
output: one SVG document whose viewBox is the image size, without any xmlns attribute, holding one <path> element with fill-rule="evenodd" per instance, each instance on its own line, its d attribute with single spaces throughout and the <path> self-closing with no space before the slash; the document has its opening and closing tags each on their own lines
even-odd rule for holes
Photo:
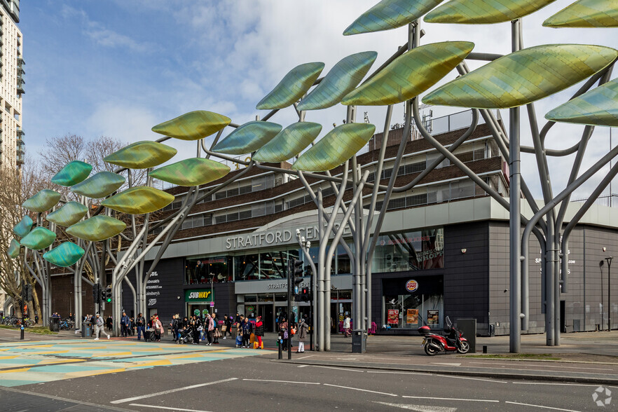
<svg viewBox="0 0 618 412">
<path fill-rule="evenodd" d="M 568 6 L 558 0 L 523 18 L 525 47 L 550 43 L 586 43 L 618 48 L 618 29 L 549 29 L 542 22 Z M 406 43 L 406 27 L 343 36 L 343 31 L 376 0 L 38 0 L 20 4 L 23 34 L 25 95 L 23 125 L 27 156 L 38 157 L 50 137 L 67 134 L 88 139 L 109 136 L 127 144 L 160 137 L 153 125 L 193 110 L 230 117 L 233 123 L 253 121 L 268 111 L 255 106 L 298 64 L 324 62 L 322 74 L 353 53 L 378 52 L 373 69 Z M 475 52 L 510 52 L 509 23 L 497 25 L 437 25 L 421 23 L 422 43 L 465 40 Z M 481 62 L 469 62 L 474 69 Z M 456 72 L 444 78 L 450 81 Z M 615 77 L 615 74 L 614 74 Z M 441 84 L 439 83 L 439 84 Z M 573 88 L 535 104 L 537 117 L 566 102 Z M 570 93 L 570 94 L 569 94 Z M 429 109 L 425 109 L 427 111 Z M 432 107 L 434 117 L 460 111 Z M 385 109 L 359 107 L 357 121 L 367 112 L 378 130 Z M 525 110 L 523 110 L 525 113 Z M 322 135 L 341 124 L 345 107 L 312 111 L 306 121 L 322 123 Z M 508 119 L 508 111 L 502 111 Z M 284 127 L 297 121 L 285 109 L 271 121 Z M 392 123 L 403 122 L 403 108 L 394 109 Z M 531 145 L 523 114 L 522 144 Z M 226 133 L 231 132 L 226 128 Z M 583 130 L 556 125 L 547 147 L 575 144 Z M 597 128 L 582 171 L 610 149 L 608 128 Z M 614 130 L 614 146 L 618 131 Z M 166 142 L 179 150 L 172 161 L 195 156 L 195 143 Z M 551 159 L 554 193 L 564 188 L 573 156 Z M 535 160 L 522 154 L 523 176 L 535 197 L 540 186 Z M 609 167 L 575 192 L 584 198 Z M 618 179 L 614 180 L 618 193 Z M 607 190 L 605 193 L 609 193 Z"/>
</svg>

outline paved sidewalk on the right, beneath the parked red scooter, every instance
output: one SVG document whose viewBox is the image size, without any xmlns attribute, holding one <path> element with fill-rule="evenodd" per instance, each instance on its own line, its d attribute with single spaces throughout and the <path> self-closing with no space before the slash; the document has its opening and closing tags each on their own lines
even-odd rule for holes
<svg viewBox="0 0 618 412">
<path fill-rule="evenodd" d="M 313 366 L 384 369 L 496 379 L 555 380 L 591 385 L 618 385 L 618 331 L 563 334 L 560 346 L 546 346 L 544 335 L 521 336 L 521 354 L 537 359 L 486 359 L 509 354 L 509 336 L 476 338 L 476 354 L 425 355 L 420 336 L 369 336 L 365 354 L 352 353 L 350 338 L 331 336 L 330 352 L 293 353 L 292 362 Z M 547 354 L 549 358 L 539 356 Z M 558 358 L 558 359 L 555 359 Z"/>
</svg>

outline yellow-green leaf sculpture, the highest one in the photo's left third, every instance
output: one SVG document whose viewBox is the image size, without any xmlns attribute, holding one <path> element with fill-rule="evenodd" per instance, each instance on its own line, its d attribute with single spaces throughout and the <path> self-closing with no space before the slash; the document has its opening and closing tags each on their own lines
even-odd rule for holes
<svg viewBox="0 0 618 412">
<path fill-rule="evenodd" d="M 152 128 L 153 132 L 181 140 L 199 140 L 219 132 L 231 119 L 212 111 L 198 110 L 172 118 Z"/>
</svg>

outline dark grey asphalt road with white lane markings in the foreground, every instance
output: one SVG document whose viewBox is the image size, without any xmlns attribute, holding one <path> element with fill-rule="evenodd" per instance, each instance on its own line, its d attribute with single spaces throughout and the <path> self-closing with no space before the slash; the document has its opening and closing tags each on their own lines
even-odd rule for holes
<svg viewBox="0 0 618 412">
<path fill-rule="evenodd" d="M 610 411 L 618 387 L 277 363 L 273 352 L 0 388 L 3 411 Z M 295 355 L 299 357 L 299 355 Z M 613 392 L 609 404 L 600 407 Z M 596 397 L 593 395 L 596 394 Z"/>
</svg>

